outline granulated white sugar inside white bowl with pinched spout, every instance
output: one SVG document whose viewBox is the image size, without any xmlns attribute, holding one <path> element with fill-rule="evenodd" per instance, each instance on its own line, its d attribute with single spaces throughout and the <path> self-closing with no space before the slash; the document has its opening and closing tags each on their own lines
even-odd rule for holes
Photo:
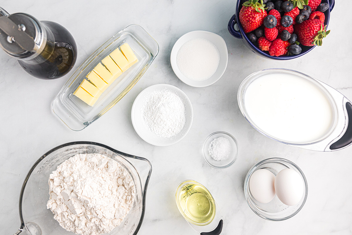
<svg viewBox="0 0 352 235">
<path fill-rule="evenodd" d="M 220 54 L 218 48 L 205 38 L 195 38 L 184 43 L 177 52 L 178 69 L 194 81 L 209 79 L 218 69 Z"/>
</svg>

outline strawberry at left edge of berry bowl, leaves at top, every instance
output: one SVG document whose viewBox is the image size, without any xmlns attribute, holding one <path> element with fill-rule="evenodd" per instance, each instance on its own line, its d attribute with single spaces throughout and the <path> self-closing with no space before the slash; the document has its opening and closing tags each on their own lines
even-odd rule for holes
<svg viewBox="0 0 352 235">
<path fill-rule="evenodd" d="M 263 20 L 267 16 L 264 6 L 265 4 L 259 3 L 258 0 L 244 2 L 239 17 L 245 33 L 249 33 L 263 24 Z"/>
</svg>

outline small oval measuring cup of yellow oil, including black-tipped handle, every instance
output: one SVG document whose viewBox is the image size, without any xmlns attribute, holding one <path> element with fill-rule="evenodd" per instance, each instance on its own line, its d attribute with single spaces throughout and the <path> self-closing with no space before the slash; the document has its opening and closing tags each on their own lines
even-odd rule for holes
<svg viewBox="0 0 352 235">
<path fill-rule="evenodd" d="M 222 214 L 212 194 L 194 180 L 185 180 L 176 190 L 177 208 L 188 224 L 201 235 L 219 235 Z"/>
</svg>

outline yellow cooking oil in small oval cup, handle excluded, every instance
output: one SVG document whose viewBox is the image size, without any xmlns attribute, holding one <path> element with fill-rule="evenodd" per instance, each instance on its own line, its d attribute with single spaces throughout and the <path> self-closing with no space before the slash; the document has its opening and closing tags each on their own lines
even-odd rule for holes
<svg viewBox="0 0 352 235">
<path fill-rule="evenodd" d="M 213 221 L 215 202 L 206 187 L 189 180 L 182 183 L 179 190 L 178 206 L 187 221 L 196 225 L 207 225 Z"/>
</svg>

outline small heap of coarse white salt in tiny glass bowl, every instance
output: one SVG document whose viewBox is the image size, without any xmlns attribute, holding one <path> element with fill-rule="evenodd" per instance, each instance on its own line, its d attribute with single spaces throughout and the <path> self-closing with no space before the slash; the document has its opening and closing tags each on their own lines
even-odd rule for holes
<svg viewBox="0 0 352 235">
<path fill-rule="evenodd" d="M 216 161 L 225 160 L 231 153 L 231 143 L 225 137 L 215 138 L 209 144 L 209 154 Z"/>
</svg>

